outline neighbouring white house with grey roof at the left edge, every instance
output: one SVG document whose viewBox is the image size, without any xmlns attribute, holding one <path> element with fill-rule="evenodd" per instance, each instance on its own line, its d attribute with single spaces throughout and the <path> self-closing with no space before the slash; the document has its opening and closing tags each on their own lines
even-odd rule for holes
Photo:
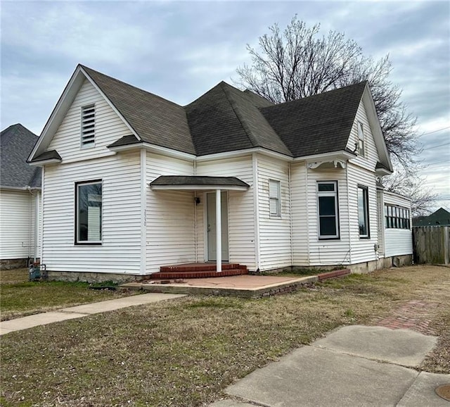
<svg viewBox="0 0 450 407">
<path fill-rule="evenodd" d="M 40 257 L 41 169 L 27 164 L 37 135 L 11 125 L 0 138 L 1 268 L 27 267 Z"/>
</svg>

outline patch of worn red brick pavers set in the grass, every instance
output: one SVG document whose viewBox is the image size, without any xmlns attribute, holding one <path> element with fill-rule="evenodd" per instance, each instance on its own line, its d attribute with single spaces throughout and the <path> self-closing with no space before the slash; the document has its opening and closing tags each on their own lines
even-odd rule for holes
<svg viewBox="0 0 450 407">
<path fill-rule="evenodd" d="M 430 311 L 439 306 L 439 303 L 427 301 L 409 301 L 397 307 L 392 315 L 375 321 L 376 325 L 388 327 L 392 330 L 410 329 L 426 335 L 435 335 L 436 332 L 429 327 L 431 322 Z"/>
</svg>

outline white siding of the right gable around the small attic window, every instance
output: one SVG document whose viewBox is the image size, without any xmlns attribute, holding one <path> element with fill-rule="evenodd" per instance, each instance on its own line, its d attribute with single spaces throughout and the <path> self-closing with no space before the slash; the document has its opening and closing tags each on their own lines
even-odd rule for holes
<svg viewBox="0 0 450 407">
<path fill-rule="evenodd" d="M 347 143 L 347 149 L 350 149 L 352 151 L 354 151 L 355 144 L 356 142 L 358 142 L 358 122 L 363 123 L 364 126 L 365 156 L 352 158 L 351 162 L 361 165 L 368 170 L 374 170 L 375 165 L 378 161 L 380 161 L 380 158 L 378 157 L 378 151 L 375 146 L 372 130 L 368 123 L 366 108 L 364 107 L 364 103 L 362 100 L 359 102 L 358 110 L 356 111 L 356 118 L 354 120 L 352 131 L 350 132 L 349 141 Z"/>
</svg>

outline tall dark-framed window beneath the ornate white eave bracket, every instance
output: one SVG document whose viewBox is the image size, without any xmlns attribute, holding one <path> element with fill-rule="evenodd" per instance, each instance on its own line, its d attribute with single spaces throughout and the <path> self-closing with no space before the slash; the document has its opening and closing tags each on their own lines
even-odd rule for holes
<svg viewBox="0 0 450 407">
<path fill-rule="evenodd" d="M 319 239 L 338 239 L 338 182 L 317 183 Z"/>
</svg>

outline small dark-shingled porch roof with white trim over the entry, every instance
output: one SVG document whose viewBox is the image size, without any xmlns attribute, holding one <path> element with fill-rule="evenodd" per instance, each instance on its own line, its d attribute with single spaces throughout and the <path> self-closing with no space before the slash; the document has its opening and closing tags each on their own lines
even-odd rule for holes
<svg viewBox="0 0 450 407">
<path fill-rule="evenodd" d="M 150 182 L 151 189 L 188 189 L 192 191 L 222 189 L 246 191 L 250 185 L 236 177 L 205 177 L 197 175 L 161 175 Z"/>
</svg>

